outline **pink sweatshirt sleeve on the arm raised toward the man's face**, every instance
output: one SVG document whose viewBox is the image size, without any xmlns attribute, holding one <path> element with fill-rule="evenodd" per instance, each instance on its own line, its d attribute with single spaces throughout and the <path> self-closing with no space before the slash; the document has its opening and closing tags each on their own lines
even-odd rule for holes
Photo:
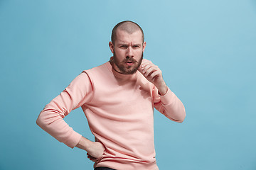
<svg viewBox="0 0 256 170">
<path fill-rule="evenodd" d="M 169 88 L 164 96 L 159 95 L 158 90 L 154 86 L 153 90 L 154 97 L 154 107 L 157 111 L 162 113 L 169 118 L 178 123 L 182 123 L 186 116 L 186 111 L 183 103 L 178 99 L 178 97 Z"/>
</svg>

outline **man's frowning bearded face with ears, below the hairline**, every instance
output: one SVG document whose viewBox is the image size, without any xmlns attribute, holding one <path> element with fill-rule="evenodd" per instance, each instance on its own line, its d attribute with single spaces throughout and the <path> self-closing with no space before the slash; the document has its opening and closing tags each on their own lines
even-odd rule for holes
<svg viewBox="0 0 256 170">
<path fill-rule="evenodd" d="M 110 42 L 112 67 L 122 74 L 134 74 L 142 63 L 145 47 L 146 42 L 143 42 L 140 30 L 132 34 L 117 30 L 117 39 L 114 44 Z"/>
</svg>

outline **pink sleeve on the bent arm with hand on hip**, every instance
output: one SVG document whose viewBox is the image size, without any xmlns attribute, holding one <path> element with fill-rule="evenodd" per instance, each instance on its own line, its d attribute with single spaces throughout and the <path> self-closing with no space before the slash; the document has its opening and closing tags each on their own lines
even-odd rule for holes
<svg viewBox="0 0 256 170">
<path fill-rule="evenodd" d="M 36 123 L 43 130 L 63 142 L 68 147 L 74 148 L 80 141 L 80 135 L 65 123 L 65 118 L 70 111 L 79 108 L 90 101 L 92 96 L 92 84 L 85 72 L 82 72 L 50 103 L 43 108 Z"/>
</svg>

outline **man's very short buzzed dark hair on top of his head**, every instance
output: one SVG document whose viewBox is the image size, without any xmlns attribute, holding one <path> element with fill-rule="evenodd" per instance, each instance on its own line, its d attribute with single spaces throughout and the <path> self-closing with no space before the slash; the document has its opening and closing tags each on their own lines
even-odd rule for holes
<svg viewBox="0 0 256 170">
<path fill-rule="evenodd" d="M 120 23 L 117 23 L 116 26 L 114 26 L 112 30 L 112 35 L 111 35 L 111 42 L 114 44 L 114 41 L 117 39 L 117 28 L 120 30 L 124 30 L 125 32 L 132 34 L 137 30 L 140 30 L 142 32 L 142 42 L 144 42 L 144 33 L 142 28 L 137 24 L 134 23 L 133 21 L 122 21 Z"/>
</svg>

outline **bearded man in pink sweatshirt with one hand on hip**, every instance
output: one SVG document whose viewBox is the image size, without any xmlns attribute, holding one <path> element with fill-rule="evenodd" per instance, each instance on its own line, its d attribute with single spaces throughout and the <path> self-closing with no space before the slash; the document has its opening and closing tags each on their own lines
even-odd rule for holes
<svg viewBox="0 0 256 170">
<path fill-rule="evenodd" d="M 118 23 L 109 42 L 109 62 L 83 71 L 41 111 L 36 123 L 69 147 L 79 147 L 95 169 L 158 169 L 153 111 L 183 122 L 185 109 L 166 86 L 159 67 L 143 59 L 142 28 Z M 69 127 L 63 118 L 82 107 L 95 142 Z"/>
</svg>

